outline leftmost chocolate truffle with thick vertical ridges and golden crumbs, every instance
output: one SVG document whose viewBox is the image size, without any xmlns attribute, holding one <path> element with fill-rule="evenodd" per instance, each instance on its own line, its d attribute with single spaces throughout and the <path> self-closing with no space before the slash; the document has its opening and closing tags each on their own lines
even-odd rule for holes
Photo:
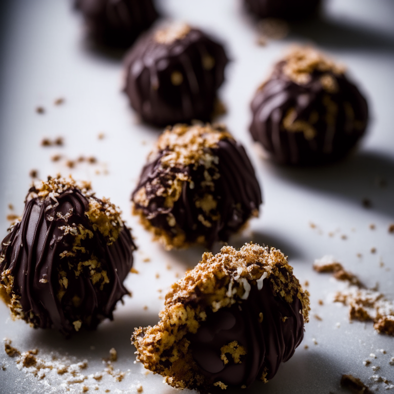
<svg viewBox="0 0 394 394">
<path fill-rule="evenodd" d="M 71 179 L 37 182 L 0 246 L 0 298 L 11 317 L 68 335 L 112 319 L 135 249 L 121 212 Z"/>
</svg>

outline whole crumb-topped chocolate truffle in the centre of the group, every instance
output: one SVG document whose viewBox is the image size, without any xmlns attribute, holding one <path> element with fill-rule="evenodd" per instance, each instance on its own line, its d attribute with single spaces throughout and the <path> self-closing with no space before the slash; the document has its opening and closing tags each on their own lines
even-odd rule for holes
<svg viewBox="0 0 394 394">
<path fill-rule="evenodd" d="M 132 193 L 133 213 L 167 249 L 227 241 L 262 202 L 243 146 L 224 126 L 175 125 L 159 137 Z"/>
</svg>

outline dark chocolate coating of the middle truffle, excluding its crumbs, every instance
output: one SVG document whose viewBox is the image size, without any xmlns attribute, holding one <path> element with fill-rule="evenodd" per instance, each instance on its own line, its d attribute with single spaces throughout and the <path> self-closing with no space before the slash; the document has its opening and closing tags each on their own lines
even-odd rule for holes
<svg viewBox="0 0 394 394">
<path fill-rule="evenodd" d="M 211 247 L 215 241 L 228 241 L 231 234 L 258 214 L 262 203 L 253 167 L 239 142 L 225 137 L 214 147 L 205 148 L 205 153 L 214 163 L 209 168 L 198 160 L 185 166 L 163 167 L 162 160 L 171 150 L 157 152 L 143 168 L 132 193 L 134 210 L 152 227 L 161 229 L 170 239 L 182 235 L 184 245 L 174 244 L 175 247 L 194 243 Z M 168 189 L 179 173 L 187 181 L 182 183 L 178 199 L 169 206 L 159 191 Z M 142 188 L 148 203 L 136 198 Z M 204 209 L 204 201 L 209 201 L 209 212 Z"/>
</svg>

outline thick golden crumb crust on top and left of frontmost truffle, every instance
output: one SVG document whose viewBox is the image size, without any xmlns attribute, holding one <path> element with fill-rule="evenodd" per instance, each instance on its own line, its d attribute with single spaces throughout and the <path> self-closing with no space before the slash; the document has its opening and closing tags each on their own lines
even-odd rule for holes
<svg viewBox="0 0 394 394">
<path fill-rule="evenodd" d="M 132 343 L 137 360 L 173 387 L 204 387 L 204 377 L 188 351 L 187 334 L 197 332 L 209 310 L 216 312 L 242 302 L 250 286 L 261 278 L 270 281 L 288 303 L 298 297 L 304 321 L 308 321 L 308 292 L 302 290 L 280 250 L 257 244 L 245 244 L 240 250 L 225 246 L 216 255 L 204 253 L 200 263 L 172 285 L 157 325 L 135 329 Z M 245 349 L 237 345 L 230 343 L 228 349 L 222 349 L 222 356 L 228 359 L 229 353 L 239 360 Z"/>
</svg>

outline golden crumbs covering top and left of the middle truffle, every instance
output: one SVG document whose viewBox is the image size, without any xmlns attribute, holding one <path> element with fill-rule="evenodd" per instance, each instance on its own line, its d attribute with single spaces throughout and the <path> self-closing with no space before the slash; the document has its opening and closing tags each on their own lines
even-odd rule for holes
<svg viewBox="0 0 394 394">
<path fill-rule="evenodd" d="M 182 190 L 185 187 L 193 189 L 194 185 L 191 177 L 186 173 L 185 168 L 193 166 L 197 168 L 204 166 L 204 185 L 206 193 L 194 201 L 197 208 L 201 208 L 204 214 L 199 215 L 199 221 L 206 227 L 211 227 L 214 221 L 218 220 L 215 201 L 211 190 L 214 190 L 214 180 L 220 178 L 219 170 L 215 164 L 218 157 L 211 149 L 218 146 L 219 141 L 231 139 L 231 134 L 222 125 L 201 125 L 192 126 L 175 125 L 167 128 L 159 137 L 155 149 L 150 153 L 148 162 L 153 162 L 160 157 L 160 176 L 147 182 L 133 195 L 133 214 L 139 215 L 141 223 L 147 230 L 154 234 L 154 239 L 159 240 L 167 249 L 187 247 L 185 233 L 178 226 L 171 213 L 176 201 L 181 198 Z M 210 174 L 208 170 L 213 170 Z M 159 185 L 159 187 L 158 187 Z M 151 225 L 149 216 L 144 214 L 144 209 L 149 207 L 152 201 L 161 196 L 164 199 L 163 208 L 167 211 L 167 222 L 172 231 L 166 231 Z M 205 238 L 202 236 L 197 243 L 204 244 Z"/>
</svg>

